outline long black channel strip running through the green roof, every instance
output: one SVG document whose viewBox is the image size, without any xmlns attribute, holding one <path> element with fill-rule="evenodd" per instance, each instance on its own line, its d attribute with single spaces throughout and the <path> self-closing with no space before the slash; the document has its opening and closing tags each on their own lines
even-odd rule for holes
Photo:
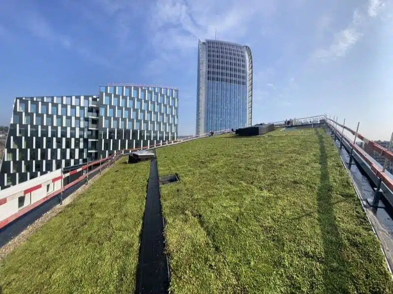
<svg viewBox="0 0 393 294">
<path fill-rule="evenodd" d="M 161 214 L 157 161 L 150 161 L 146 205 L 140 242 L 137 294 L 168 293 L 169 268 L 164 253 L 164 223 Z"/>
</svg>

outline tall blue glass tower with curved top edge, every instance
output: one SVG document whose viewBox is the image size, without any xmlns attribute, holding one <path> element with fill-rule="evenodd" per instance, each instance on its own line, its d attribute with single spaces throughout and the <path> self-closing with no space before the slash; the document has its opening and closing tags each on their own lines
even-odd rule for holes
<svg viewBox="0 0 393 294">
<path fill-rule="evenodd" d="M 253 57 L 248 46 L 198 40 L 196 134 L 250 126 Z"/>
</svg>

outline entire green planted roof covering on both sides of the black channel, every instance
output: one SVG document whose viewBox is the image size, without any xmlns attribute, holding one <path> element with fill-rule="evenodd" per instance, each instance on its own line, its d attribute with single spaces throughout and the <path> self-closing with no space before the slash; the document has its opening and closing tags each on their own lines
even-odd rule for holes
<svg viewBox="0 0 393 294">
<path fill-rule="evenodd" d="M 323 129 L 156 150 L 171 293 L 390 293 Z M 126 158 L 0 262 L 2 293 L 134 292 L 149 163 Z M 0 291 L 0 292 L 1 292 Z"/>
</svg>

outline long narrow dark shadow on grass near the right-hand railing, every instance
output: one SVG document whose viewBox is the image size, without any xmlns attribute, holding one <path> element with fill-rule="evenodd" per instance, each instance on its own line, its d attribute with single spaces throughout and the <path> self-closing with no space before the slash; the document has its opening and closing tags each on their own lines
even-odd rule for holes
<svg viewBox="0 0 393 294">
<path fill-rule="evenodd" d="M 322 277 L 325 293 L 347 293 L 349 272 L 342 254 L 343 242 L 333 209 L 333 188 L 330 183 L 327 152 L 321 132 L 322 130 L 315 128 L 315 134 L 319 141 L 321 165 L 320 186 L 317 192 L 317 213 L 325 253 Z"/>
</svg>

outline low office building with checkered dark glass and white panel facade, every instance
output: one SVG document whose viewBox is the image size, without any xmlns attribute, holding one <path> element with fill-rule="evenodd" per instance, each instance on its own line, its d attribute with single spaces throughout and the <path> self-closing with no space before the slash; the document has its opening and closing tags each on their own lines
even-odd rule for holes
<svg viewBox="0 0 393 294">
<path fill-rule="evenodd" d="M 99 95 L 15 98 L 0 189 L 116 150 L 177 139 L 178 89 L 107 85 Z"/>
</svg>

